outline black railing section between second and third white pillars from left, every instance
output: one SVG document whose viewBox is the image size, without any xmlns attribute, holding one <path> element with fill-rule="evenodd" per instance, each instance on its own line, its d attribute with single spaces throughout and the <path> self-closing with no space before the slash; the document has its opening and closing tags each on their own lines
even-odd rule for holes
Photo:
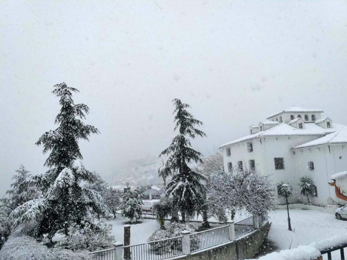
<svg viewBox="0 0 347 260">
<path fill-rule="evenodd" d="M 210 248 L 211 246 L 223 244 L 230 241 L 229 225 L 211 228 L 189 235 L 191 252 Z"/>
</svg>

